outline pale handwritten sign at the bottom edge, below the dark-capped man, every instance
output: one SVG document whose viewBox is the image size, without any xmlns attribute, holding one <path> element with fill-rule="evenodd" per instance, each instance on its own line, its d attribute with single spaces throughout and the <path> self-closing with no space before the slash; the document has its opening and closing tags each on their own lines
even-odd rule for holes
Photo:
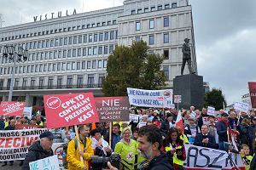
<svg viewBox="0 0 256 170">
<path fill-rule="evenodd" d="M 59 162 L 57 156 L 49 156 L 38 161 L 29 162 L 30 170 L 38 169 L 50 169 L 50 170 L 60 170 Z"/>
</svg>

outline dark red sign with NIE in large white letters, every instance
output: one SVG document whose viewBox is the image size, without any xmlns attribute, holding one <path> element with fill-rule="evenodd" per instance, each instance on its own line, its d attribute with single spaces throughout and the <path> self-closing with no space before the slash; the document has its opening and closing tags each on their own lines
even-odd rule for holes
<svg viewBox="0 0 256 170">
<path fill-rule="evenodd" d="M 129 106 L 128 97 L 96 98 L 100 122 L 130 121 Z"/>
</svg>

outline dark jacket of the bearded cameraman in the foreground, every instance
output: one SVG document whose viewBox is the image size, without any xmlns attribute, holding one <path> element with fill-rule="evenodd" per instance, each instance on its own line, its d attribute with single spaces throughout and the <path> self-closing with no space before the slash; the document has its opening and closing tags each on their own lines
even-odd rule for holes
<svg viewBox="0 0 256 170">
<path fill-rule="evenodd" d="M 166 154 L 161 153 L 160 156 L 154 157 L 153 160 L 149 162 L 148 167 L 143 168 L 143 170 L 172 170 L 172 160 L 166 156 Z"/>
</svg>

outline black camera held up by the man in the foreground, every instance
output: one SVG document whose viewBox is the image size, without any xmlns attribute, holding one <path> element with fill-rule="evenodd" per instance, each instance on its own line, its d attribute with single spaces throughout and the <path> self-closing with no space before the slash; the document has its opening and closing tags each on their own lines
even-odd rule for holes
<svg viewBox="0 0 256 170">
<path fill-rule="evenodd" d="M 108 167 L 108 161 L 111 163 L 113 167 L 119 169 L 119 163 L 121 161 L 121 156 L 119 154 L 113 153 L 109 157 L 105 156 L 90 156 L 91 159 L 91 167 L 93 170 L 102 170 L 102 168 Z"/>
</svg>

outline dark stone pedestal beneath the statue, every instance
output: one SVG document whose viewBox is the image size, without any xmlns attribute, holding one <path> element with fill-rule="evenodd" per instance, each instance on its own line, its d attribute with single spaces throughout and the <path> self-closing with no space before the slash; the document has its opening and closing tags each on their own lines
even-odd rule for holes
<svg viewBox="0 0 256 170">
<path fill-rule="evenodd" d="M 189 110 L 191 105 L 201 110 L 203 107 L 204 88 L 203 77 L 195 74 L 178 76 L 173 79 L 173 95 L 181 95 L 182 103 L 178 108 Z M 177 107 L 177 104 L 175 104 Z"/>
</svg>

